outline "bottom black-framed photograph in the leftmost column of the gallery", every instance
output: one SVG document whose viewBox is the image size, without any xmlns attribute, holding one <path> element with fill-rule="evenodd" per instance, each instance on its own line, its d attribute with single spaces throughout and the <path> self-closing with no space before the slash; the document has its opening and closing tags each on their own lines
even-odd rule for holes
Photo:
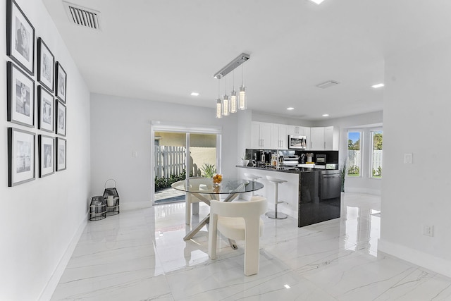
<svg viewBox="0 0 451 301">
<path fill-rule="evenodd" d="M 8 187 L 35 180 L 35 134 L 8 128 Z"/>
</svg>

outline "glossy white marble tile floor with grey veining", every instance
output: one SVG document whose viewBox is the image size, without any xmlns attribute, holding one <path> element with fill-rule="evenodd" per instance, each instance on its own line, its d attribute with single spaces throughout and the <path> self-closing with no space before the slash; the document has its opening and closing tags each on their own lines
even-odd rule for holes
<svg viewBox="0 0 451 301">
<path fill-rule="evenodd" d="M 202 219 L 209 207 L 200 207 Z M 243 274 L 244 245 L 208 228 L 185 241 L 185 204 L 90 221 L 51 300 L 451 300 L 451 279 L 377 251 L 380 197 L 345 193 L 342 216 L 297 228 L 264 217 L 260 270 Z"/>
</svg>

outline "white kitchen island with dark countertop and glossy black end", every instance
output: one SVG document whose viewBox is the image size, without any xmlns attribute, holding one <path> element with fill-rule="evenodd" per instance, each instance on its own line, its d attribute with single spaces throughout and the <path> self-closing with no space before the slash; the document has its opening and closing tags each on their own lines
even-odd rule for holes
<svg viewBox="0 0 451 301">
<path fill-rule="evenodd" d="M 328 170 L 297 166 L 237 166 L 240 178 L 252 173 L 261 178 L 264 189 L 259 194 L 268 199 L 268 207 L 274 204 L 274 185 L 266 180 L 273 176 L 286 180 L 278 188 L 278 211 L 297 219 L 297 226 L 307 226 L 340 217 L 341 178 L 338 169 Z"/>
</svg>

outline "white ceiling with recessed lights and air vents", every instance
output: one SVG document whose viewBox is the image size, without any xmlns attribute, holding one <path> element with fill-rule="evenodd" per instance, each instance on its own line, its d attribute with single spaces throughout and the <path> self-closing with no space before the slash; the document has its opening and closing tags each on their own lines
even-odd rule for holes
<svg viewBox="0 0 451 301">
<path fill-rule="evenodd" d="M 245 52 L 248 109 L 310 121 L 382 110 L 384 57 L 451 29 L 449 0 L 70 0 L 99 11 L 101 31 L 42 1 L 91 92 L 214 108 L 214 73 Z M 340 85 L 316 87 L 327 80 Z"/>
</svg>

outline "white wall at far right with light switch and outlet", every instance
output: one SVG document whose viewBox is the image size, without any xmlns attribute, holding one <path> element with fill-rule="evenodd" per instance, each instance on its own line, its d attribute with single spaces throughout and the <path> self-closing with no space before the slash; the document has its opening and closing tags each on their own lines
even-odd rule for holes
<svg viewBox="0 0 451 301">
<path fill-rule="evenodd" d="M 385 60 L 378 249 L 451 276 L 451 41 Z M 404 164 L 413 154 L 413 164 Z M 422 234 L 433 226 L 433 237 Z"/>
</svg>

